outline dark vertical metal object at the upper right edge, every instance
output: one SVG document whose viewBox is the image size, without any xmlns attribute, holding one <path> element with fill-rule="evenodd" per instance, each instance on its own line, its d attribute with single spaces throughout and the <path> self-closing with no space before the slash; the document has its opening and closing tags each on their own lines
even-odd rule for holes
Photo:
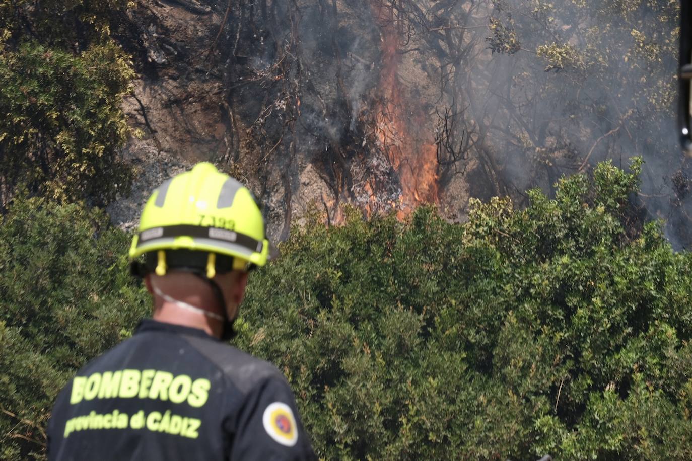
<svg viewBox="0 0 692 461">
<path fill-rule="evenodd" d="M 682 149 L 692 154 L 692 0 L 680 1 L 680 98 L 678 120 Z"/>
</svg>

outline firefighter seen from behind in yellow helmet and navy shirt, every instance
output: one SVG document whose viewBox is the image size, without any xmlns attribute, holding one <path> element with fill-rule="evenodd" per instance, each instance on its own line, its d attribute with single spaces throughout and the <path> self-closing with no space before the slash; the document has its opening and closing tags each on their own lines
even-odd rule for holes
<svg viewBox="0 0 692 461">
<path fill-rule="evenodd" d="M 212 164 L 158 187 L 129 250 L 152 319 L 62 390 L 48 459 L 316 459 L 283 375 L 225 341 L 273 253 L 251 192 Z"/>
</svg>

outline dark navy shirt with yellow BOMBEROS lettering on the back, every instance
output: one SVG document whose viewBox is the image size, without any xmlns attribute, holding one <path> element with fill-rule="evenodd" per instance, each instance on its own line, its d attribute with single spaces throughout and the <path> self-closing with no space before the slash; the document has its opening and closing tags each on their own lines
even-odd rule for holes
<svg viewBox="0 0 692 461">
<path fill-rule="evenodd" d="M 202 330 L 145 320 L 62 390 L 48 459 L 316 458 L 279 370 Z"/>
</svg>

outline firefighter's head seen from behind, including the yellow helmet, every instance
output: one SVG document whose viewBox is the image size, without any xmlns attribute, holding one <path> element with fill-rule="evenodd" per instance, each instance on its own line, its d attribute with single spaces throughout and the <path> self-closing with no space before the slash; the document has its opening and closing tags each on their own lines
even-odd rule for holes
<svg viewBox="0 0 692 461">
<path fill-rule="evenodd" d="M 274 253 L 253 194 L 208 162 L 154 190 L 129 250 L 132 272 L 145 279 L 157 305 L 175 303 L 183 318 L 204 310 L 223 323 L 224 337 L 248 271 Z"/>
</svg>

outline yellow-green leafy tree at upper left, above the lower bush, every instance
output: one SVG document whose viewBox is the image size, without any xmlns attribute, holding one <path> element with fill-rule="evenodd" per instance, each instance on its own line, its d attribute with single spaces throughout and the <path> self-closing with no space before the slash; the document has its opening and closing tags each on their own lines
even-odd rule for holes
<svg viewBox="0 0 692 461">
<path fill-rule="evenodd" d="M 109 42 L 80 55 L 29 42 L 1 55 L 6 187 L 21 180 L 54 198 L 101 203 L 127 187 L 127 168 L 116 153 L 129 132 L 120 104 L 133 76 Z"/>
</svg>

